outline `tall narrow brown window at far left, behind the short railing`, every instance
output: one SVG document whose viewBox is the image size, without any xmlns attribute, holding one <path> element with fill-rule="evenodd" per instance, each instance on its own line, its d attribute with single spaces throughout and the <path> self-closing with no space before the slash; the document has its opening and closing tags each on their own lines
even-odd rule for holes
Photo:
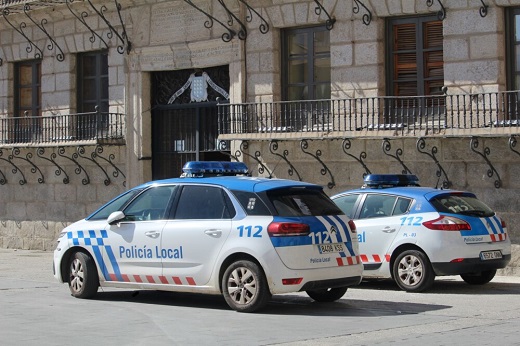
<svg viewBox="0 0 520 346">
<path fill-rule="evenodd" d="M 41 133 L 41 60 L 14 65 L 14 114 L 10 124 L 12 142 L 30 142 Z"/>
</svg>

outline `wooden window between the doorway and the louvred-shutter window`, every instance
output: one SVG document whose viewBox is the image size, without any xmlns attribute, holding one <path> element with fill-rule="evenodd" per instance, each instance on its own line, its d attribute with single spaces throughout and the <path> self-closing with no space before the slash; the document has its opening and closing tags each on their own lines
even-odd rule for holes
<svg viewBox="0 0 520 346">
<path fill-rule="evenodd" d="M 324 26 L 288 29 L 282 35 L 286 101 L 330 99 L 330 33 Z"/>
</svg>

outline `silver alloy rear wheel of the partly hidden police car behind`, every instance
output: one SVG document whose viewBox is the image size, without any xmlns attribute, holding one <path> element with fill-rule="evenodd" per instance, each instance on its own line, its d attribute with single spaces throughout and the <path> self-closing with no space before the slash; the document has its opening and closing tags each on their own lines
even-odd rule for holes
<svg viewBox="0 0 520 346">
<path fill-rule="evenodd" d="M 435 280 L 430 260 L 418 250 L 400 253 L 394 261 L 392 274 L 397 285 L 407 292 L 425 291 Z"/>
</svg>

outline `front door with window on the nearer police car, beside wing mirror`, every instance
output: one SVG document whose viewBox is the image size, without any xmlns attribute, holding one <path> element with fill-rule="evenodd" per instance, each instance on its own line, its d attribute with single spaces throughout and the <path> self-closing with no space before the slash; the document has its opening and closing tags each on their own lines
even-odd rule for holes
<svg viewBox="0 0 520 346">
<path fill-rule="evenodd" d="M 108 226 L 102 268 L 107 281 L 160 283 L 161 234 L 174 189 L 157 186 L 143 191 L 123 210 L 125 218 Z"/>
</svg>

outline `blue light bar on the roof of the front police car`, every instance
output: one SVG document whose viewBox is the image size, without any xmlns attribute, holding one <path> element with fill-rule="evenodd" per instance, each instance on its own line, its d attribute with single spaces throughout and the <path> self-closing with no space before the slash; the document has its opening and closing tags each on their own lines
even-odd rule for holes
<svg viewBox="0 0 520 346">
<path fill-rule="evenodd" d="M 182 168 L 182 177 L 204 177 L 216 175 L 244 175 L 249 169 L 243 162 L 189 161 Z"/>
</svg>

